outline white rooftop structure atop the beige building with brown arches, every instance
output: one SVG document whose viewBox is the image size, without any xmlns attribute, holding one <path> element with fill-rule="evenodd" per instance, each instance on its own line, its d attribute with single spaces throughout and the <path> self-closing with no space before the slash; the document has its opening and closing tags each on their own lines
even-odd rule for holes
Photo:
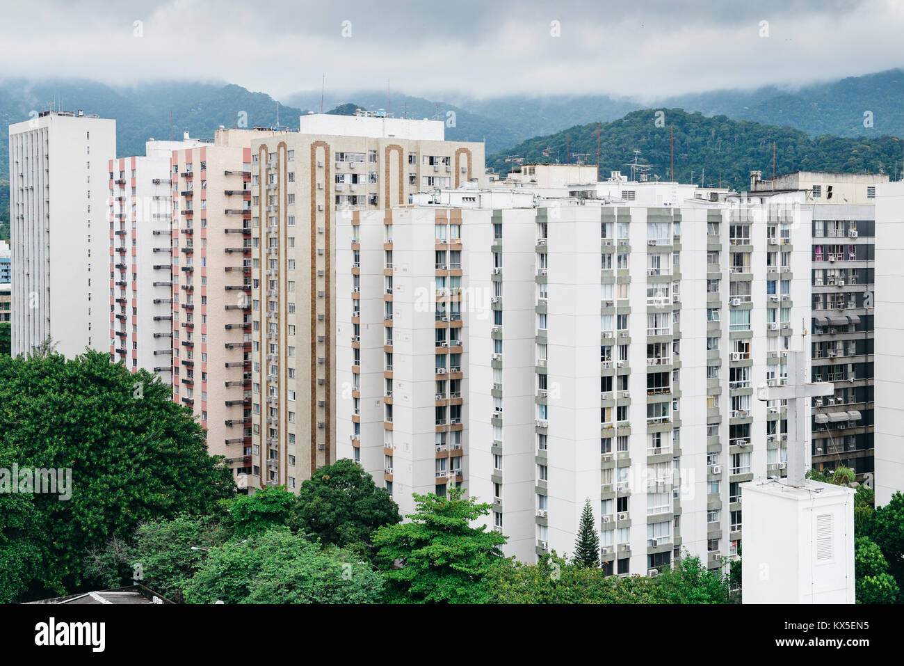
<svg viewBox="0 0 904 666">
<path fill-rule="evenodd" d="M 321 136 L 446 140 L 446 124 L 442 120 L 390 118 L 367 111 L 354 116 L 308 113 L 301 117 L 298 128 L 301 134 Z"/>
</svg>

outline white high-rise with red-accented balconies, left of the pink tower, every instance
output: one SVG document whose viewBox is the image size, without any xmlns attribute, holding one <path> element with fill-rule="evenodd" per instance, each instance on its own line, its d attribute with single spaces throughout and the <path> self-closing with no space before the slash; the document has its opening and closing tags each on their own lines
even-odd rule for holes
<svg viewBox="0 0 904 666">
<path fill-rule="evenodd" d="M 185 133 L 187 135 L 187 132 Z M 174 150 L 203 145 L 146 143 L 145 156 L 108 161 L 109 351 L 133 372 L 141 367 L 173 383 Z"/>
</svg>

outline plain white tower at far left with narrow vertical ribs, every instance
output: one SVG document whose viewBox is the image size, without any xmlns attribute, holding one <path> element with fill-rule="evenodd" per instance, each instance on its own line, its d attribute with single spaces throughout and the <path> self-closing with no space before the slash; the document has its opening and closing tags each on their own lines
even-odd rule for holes
<svg viewBox="0 0 904 666">
<path fill-rule="evenodd" d="M 108 160 L 116 120 L 44 111 L 9 126 L 13 354 L 48 337 L 108 349 Z"/>
</svg>

